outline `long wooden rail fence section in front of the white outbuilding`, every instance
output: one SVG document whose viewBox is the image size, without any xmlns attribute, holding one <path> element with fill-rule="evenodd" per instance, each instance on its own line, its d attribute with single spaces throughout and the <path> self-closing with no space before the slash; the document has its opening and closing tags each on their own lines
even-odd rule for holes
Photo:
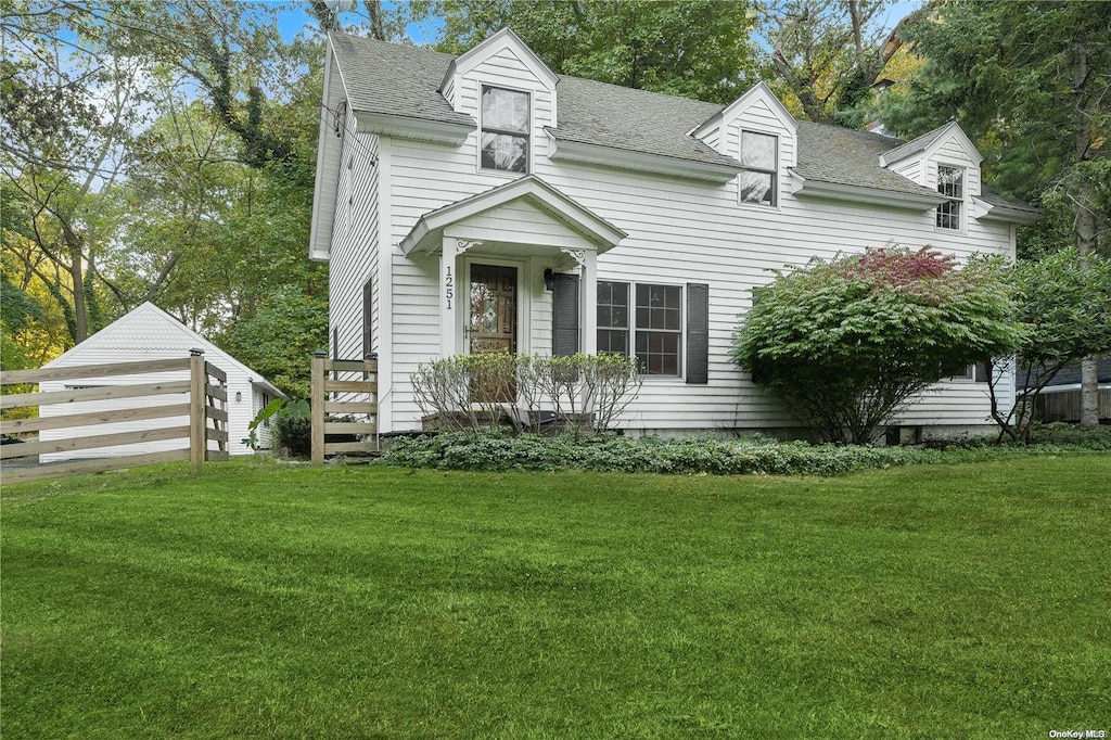
<svg viewBox="0 0 1111 740">
<path fill-rule="evenodd" d="M 189 460 L 194 472 L 200 472 L 206 460 L 228 459 L 228 376 L 211 362 L 206 362 L 200 353 L 174 360 L 149 360 L 143 362 L 117 362 L 112 364 L 77 366 L 39 370 L 13 370 L 0 373 L 0 384 L 38 384 L 56 380 L 87 380 L 146 373 L 189 372 L 189 380 L 143 382 L 129 386 L 102 386 L 61 391 L 12 393 L 0 396 L 0 409 L 43 407 L 83 401 L 107 401 L 114 399 L 147 398 L 168 394 L 188 394 L 186 403 L 166 403 L 147 408 L 111 409 L 64 416 L 48 416 L 37 419 L 0 420 L 0 432 L 23 434 L 53 429 L 72 429 L 112 424 L 126 421 L 146 421 L 172 417 L 188 417 L 189 423 L 177 427 L 151 428 L 139 431 L 72 437 L 70 439 L 34 440 L 0 447 L 0 460 L 10 461 L 2 474 L 3 483 L 19 483 L 44 478 L 60 478 L 80 473 L 102 472 L 148 466 L 173 460 Z M 209 426 L 211 422 L 211 426 Z M 182 439 L 188 447 L 126 454 L 92 460 L 67 460 L 56 463 L 33 464 L 20 458 L 36 459 L 40 454 L 94 450 L 119 444 L 137 444 L 163 440 Z M 209 449 L 214 442 L 216 450 Z M 18 462 L 19 467 L 12 466 Z M 27 464 L 24 464 L 27 463 Z"/>
</svg>

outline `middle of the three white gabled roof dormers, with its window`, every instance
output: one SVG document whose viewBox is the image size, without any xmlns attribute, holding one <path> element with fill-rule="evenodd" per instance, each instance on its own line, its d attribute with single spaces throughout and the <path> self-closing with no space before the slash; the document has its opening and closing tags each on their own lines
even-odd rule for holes
<svg viewBox="0 0 1111 740">
<path fill-rule="evenodd" d="M 795 166 L 798 123 L 771 88 L 758 82 L 691 134 L 741 163 L 740 204 L 779 208 Z"/>
</svg>

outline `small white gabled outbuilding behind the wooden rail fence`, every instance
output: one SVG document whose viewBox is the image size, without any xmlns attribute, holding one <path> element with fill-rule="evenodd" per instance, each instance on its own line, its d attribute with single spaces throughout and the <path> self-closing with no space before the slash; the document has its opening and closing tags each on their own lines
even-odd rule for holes
<svg viewBox="0 0 1111 740">
<path fill-rule="evenodd" d="M 86 364 L 109 364 L 113 362 L 138 362 L 142 360 L 168 360 L 189 357 L 191 349 L 204 351 L 204 359 L 228 373 L 228 450 L 231 454 L 250 454 L 253 450 L 243 444 L 249 434 L 249 426 L 256 414 L 272 399 L 286 398 L 273 383 L 231 357 L 211 341 L 184 326 L 153 303 L 143 303 L 127 316 L 104 327 L 92 337 L 48 362 L 44 368 L 71 368 Z M 187 380 L 189 372 L 161 372 L 152 374 L 116 376 L 84 380 L 43 382 L 41 391 L 76 390 L 97 386 L 126 386 L 158 381 Z M 51 417 L 67 413 L 107 411 L 116 409 L 146 408 L 182 403 L 184 396 L 154 396 L 147 398 L 116 399 L 111 401 L 84 401 L 42 406 L 39 416 Z M 149 421 L 128 421 L 97 427 L 56 429 L 42 431 L 42 441 L 64 440 L 91 434 L 111 434 L 159 427 L 176 427 L 183 418 L 166 418 Z M 258 430 L 259 447 L 270 446 L 270 430 Z M 43 454 L 42 461 L 59 461 L 79 458 L 103 458 L 123 454 L 160 452 L 181 447 L 180 440 L 144 442 L 111 448 L 97 448 L 74 452 Z"/>
</svg>

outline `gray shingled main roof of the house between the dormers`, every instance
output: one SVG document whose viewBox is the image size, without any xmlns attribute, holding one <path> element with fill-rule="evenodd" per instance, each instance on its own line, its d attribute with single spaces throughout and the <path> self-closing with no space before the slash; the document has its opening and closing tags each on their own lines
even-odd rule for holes
<svg viewBox="0 0 1111 740">
<path fill-rule="evenodd" d="M 439 91 L 453 59 L 450 54 L 342 33 L 332 33 L 331 39 L 352 109 L 477 124 L 452 110 Z M 557 94 L 559 126 L 550 129 L 557 140 L 740 166 L 688 136 L 723 106 L 562 76 Z M 795 171 L 808 180 L 935 196 L 880 167 L 879 160 L 884 153 L 890 158 L 902 150 L 924 149 L 940 130 L 902 143 L 878 133 L 799 121 Z"/>
</svg>

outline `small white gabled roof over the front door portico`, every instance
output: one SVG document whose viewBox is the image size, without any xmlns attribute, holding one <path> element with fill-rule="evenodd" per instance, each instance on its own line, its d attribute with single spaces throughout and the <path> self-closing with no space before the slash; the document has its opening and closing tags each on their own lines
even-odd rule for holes
<svg viewBox="0 0 1111 740">
<path fill-rule="evenodd" d="M 605 252 L 628 234 L 534 174 L 420 217 L 401 240 L 407 257 L 439 253 L 444 237 Z"/>
</svg>

